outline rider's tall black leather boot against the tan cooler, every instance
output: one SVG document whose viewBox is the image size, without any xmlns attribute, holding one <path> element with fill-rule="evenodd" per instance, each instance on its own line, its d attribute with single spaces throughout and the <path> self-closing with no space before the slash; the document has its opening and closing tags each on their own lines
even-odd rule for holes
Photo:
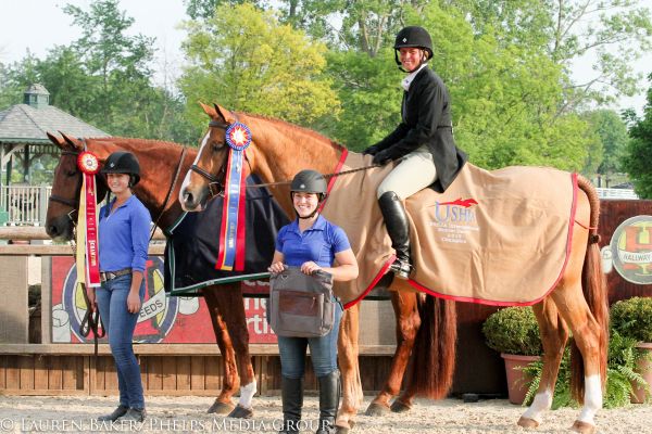
<svg viewBox="0 0 652 434">
<path fill-rule="evenodd" d="M 399 279 L 409 279 L 412 270 L 410 256 L 410 224 L 401 199 L 393 191 L 387 191 L 378 199 L 391 246 L 397 251 L 397 260 L 391 270 Z"/>
</svg>

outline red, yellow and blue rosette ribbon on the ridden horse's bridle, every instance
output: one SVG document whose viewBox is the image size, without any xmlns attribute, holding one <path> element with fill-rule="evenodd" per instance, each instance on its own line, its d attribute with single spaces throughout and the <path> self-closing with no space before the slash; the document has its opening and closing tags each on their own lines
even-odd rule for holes
<svg viewBox="0 0 652 434">
<path fill-rule="evenodd" d="M 224 181 L 224 205 L 220 228 L 220 252 L 217 270 L 244 269 L 244 150 L 251 144 L 251 130 L 242 123 L 234 123 L 226 130 L 229 145 L 226 179 Z"/>
</svg>

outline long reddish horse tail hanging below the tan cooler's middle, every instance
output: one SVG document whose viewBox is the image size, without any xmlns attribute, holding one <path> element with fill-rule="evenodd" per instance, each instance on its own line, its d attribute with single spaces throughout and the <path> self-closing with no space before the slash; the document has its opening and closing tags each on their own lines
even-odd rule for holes
<svg viewBox="0 0 652 434">
<path fill-rule="evenodd" d="M 442 399 L 453 384 L 455 370 L 455 302 L 419 296 L 418 312 L 422 323 L 412 350 L 408 395 Z"/>
</svg>

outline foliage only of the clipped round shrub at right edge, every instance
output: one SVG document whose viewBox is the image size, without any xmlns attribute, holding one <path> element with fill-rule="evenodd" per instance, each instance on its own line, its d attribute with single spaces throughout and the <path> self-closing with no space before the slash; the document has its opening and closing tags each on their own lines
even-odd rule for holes
<svg viewBox="0 0 652 434">
<path fill-rule="evenodd" d="M 611 308 L 611 327 L 622 336 L 652 342 L 652 298 L 631 297 Z"/>
</svg>

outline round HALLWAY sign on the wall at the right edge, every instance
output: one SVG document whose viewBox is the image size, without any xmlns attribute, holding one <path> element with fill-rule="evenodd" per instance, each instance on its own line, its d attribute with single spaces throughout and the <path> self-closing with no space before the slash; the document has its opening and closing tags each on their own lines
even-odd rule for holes
<svg viewBox="0 0 652 434">
<path fill-rule="evenodd" d="M 623 221 L 610 246 L 613 265 L 623 279 L 637 284 L 652 283 L 652 216 Z"/>
</svg>

